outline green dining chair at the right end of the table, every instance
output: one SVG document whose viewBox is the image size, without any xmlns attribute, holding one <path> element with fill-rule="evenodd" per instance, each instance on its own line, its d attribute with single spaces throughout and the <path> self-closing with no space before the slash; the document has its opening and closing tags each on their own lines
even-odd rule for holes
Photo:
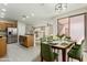
<svg viewBox="0 0 87 65">
<path fill-rule="evenodd" d="M 67 53 L 68 55 L 67 61 L 69 61 L 69 57 L 70 57 L 70 58 L 78 59 L 79 62 L 83 62 L 83 53 L 81 53 L 83 43 L 84 43 L 84 40 L 81 41 L 80 45 L 76 44 L 72 47 L 72 50 Z"/>
</svg>

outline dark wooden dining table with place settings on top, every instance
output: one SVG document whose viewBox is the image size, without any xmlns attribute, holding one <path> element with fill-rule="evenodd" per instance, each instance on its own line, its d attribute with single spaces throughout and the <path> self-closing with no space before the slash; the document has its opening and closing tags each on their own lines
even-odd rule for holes
<svg viewBox="0 0 87 65">
<path fill-rule="evenodd" d="M 75 42 L 74 41 L 53 41 L 53 42 L 50 42 L 50 44 L 52 45 L 54 50 L 55 48 L 62 50 L 62 61 L 66 62 L 66 51 L 67 48 L 73 46 Z"/>
</svg>

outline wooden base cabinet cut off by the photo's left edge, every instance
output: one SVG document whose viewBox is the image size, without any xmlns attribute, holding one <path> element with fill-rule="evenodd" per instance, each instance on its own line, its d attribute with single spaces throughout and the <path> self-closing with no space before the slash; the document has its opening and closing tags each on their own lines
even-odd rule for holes
<svg viewBox="0 0 87 65">
<path fill-rule="evenodd" d="M 4 37 L 0 37 L 0 57 L 6 56 L 7 54 L 7 42 Z"/>
</svg>

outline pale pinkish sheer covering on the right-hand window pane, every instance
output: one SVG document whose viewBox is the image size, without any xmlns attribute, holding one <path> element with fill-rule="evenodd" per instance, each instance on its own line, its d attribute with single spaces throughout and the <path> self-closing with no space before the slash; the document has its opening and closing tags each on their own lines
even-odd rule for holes
<svg viewBox="0 0 87 65">
<path fill-rule="evenodd" d="M 72 40 L 76 40 L 79 42 L 80 40 L 85 39 L 85 17 L 77 15 L 69 18 L 69 34 Z"/>
</svg>

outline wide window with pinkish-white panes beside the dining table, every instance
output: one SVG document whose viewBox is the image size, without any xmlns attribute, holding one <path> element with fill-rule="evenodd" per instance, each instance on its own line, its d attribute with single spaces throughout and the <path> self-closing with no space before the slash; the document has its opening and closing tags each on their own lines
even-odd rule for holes
<svg viewBox="0 0 87 65">
<path fill-rule="evenodd" d="M 85 39 L 85 14 L 59 19 L 58 34 L 70 35 L 77 42 Z"/>
</svg>

